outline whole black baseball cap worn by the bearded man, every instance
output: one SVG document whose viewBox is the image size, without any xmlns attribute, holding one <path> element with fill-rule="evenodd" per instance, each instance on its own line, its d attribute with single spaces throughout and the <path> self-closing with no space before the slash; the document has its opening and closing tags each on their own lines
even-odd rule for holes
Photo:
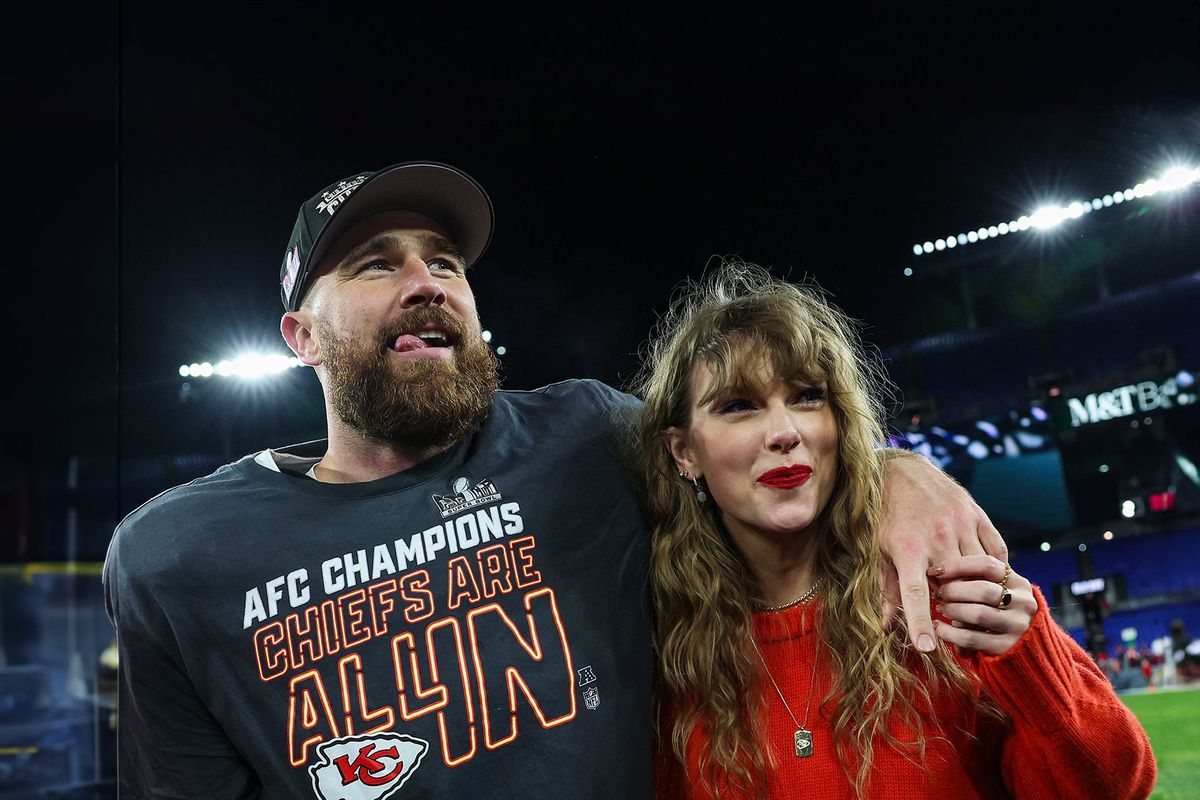
<svg viewBox="0 0 1200 800">
<path fill-rule="evenodd" d="M 467 173 L 433 161 L 407 161 L 326 186 L 300 206 L 283 266 L 280 295 L 300 307 L 312 270 L 354 223 L 379 211 L 415 211 L 445 228 L 472 265 L 492 240 L 492 201 Z"/>
</svg>

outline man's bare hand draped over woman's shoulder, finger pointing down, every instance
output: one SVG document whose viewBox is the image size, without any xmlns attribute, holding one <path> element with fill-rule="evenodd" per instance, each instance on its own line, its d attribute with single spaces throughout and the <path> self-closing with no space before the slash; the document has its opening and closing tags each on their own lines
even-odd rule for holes
<svg viewBox="0 0 1200 800">
<path fill-rule="evenodd" d="M 936 646 L 925 570 L 959 555 L 986 553 L 1008 561 L 1008 546 L 966 489 L 928 458 L 907 450 L 878 451 L 883 463 L 880 541 L 884 569 L 884 620 L 904 609 L 918 650 Z"/>
</svg>

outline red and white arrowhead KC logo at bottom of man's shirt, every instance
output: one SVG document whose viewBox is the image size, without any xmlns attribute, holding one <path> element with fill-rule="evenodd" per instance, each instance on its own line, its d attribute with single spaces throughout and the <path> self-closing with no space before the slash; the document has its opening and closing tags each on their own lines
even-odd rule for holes
<svg viewBox="0 0 1200 800">
<path fill-rule="evenodd" d="M 343 736 L 317 747 L 308 768 L 320 800 L 386 800 L 416 771 L 430 742 L 404 734 Z"/>
</svg>

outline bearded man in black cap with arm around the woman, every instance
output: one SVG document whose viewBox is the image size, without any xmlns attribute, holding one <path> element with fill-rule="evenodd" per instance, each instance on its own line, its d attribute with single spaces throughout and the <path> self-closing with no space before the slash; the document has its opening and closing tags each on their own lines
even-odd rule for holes
<svg viewBox="0 0 1200 800">
<path fill-rule="evenodd" d="M 491 234 L 484 190 L 444 164 L 301 206 L 281 331 L 328 439 L 118 528 L 122 796 L 653 796 L 648 542 L 616 446 L 638 403 L 498 391 L 467 279 Z M 922 459 L 889 459 L 887 506 L 929 650 L 925 567 L 1003 542 Z"/>
</svg>

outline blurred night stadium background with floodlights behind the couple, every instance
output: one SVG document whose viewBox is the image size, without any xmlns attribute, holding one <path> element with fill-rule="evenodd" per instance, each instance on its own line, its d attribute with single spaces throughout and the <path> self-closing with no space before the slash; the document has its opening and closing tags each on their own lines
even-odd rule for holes
<svg viewBox="0 0 1200 800">
<path fill-rule="evenodd" d="M 496 201 L 473 281 L 509 387 L 620 385 L 714 251 L 815 275 L 870 324 L 892 444 L 974 494 L 1127 693 L 1156 796 L 1200 796 L 1194 5 L 1082 26 L 485 16 L 418 77 L 391 52 L 332 55 L 361 20 L 277 12 L 26 11 L 6 54 L 31 121 L 10 199 L 38 213 L 12 242 L 0 799 L 115 796 L 112 530 L 322 435 L 316 379 L 274 327 L 275 265 L 317 186 L 412 156 Z M 419 131 L 388 108 L 414 97 L 437 115 Z"/>
</svg>

